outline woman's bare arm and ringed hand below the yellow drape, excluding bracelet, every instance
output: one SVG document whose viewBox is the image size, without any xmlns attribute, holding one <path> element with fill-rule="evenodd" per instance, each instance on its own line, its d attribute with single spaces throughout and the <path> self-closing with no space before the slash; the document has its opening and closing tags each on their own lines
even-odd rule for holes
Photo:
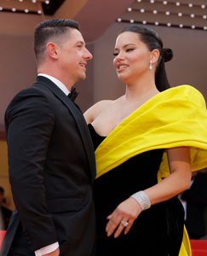
<svg viewBox="0 0 207 256">
<path fill-rule="evenodd" d="M 181 193 L 181 191 L 187 189 L 191 182 L 191 157 L 190 148 L 169 148 L 167 149 L 170 175 L 165 177 L 160 183 L 152 186 L 149 189 L 144 190 L 151 202 L 151 205 L 157 204 L 162 201 L 167 201 Z M 140 204 L 135 201 L 134 198 L 129 197 L 126 201 L 123 201 L 114 212 L 107 218 L 109 219 L 106 224 L 107 236 L 111 236 L 114 230 L 114 237 L 118 237 L 124 230 L 124 224 L 121 224 L 121 220 L 128 222 L 128 226 L 124 230 L 126 235 L 135 218 L 141 213 Z"/>
</svg>

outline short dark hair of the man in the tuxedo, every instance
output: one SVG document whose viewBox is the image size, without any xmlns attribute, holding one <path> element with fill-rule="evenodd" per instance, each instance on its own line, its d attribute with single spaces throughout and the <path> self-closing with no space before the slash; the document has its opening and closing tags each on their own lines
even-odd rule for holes
<svg viewBox="0 0 207 256">
<path fill-rule="evenodd" d="M 49 42 L 55 44 L 64 43 L 68 38 L 70 28 L 80 30 L 78 22 L 75 20 L 45 20 L 36 26 L 34 32 L 34 53 L 38 63 L 44 59 L 46 45 Z"/>
</svg>

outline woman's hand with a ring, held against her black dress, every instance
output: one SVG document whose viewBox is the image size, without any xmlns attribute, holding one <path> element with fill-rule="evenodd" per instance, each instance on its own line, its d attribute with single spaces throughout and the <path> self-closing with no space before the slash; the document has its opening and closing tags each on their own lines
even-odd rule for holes
<svg viewBox="0 0 207 256">
<path fill-rule="evenodd" d="M 140 213 L 141 206 L 134 198 L 129 197 L 127 200 L 120 203 L 112 214 L 107 217 L 107 219 L 109 219 L 106 224 L 107 236 L 111 236 L 117 228 L 118 229 L 114 233 L 114 238 L 117 238 L 124 228 L 124 235 L 126 235 Z M 128 225 L 124 227 L 124 224 L 122 224 L 121 221 L 128 222 Z"/>
</svg>

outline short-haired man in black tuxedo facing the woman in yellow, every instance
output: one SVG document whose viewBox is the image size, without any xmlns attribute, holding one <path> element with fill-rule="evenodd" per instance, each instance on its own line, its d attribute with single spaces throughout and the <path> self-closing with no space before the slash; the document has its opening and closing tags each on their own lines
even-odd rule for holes
<svg viewBox="0 0 207 256">
<path fill-rule="evenodd" d="M 37 79 L 5 113 L 16 210 L 2 255 L 92 255 L 94 149 L 82 113 L 67 97 L 85 79 L 92 55 L 74 20 L 40 23 L 34 51 Z"/>
</svg>

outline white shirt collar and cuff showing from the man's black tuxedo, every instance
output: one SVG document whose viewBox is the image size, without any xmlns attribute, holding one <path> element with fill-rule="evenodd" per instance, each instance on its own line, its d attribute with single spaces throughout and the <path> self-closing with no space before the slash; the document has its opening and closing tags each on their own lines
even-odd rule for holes
<svg viewBox="0 0 207 256">
<path fill-rule="evenodd" d="M 66 96 L 68 96 L 68 94 L 70 93 L 70 91 L 67 90 L 66 85 L 62 84 L 62 82 L 60 82 L 60 80 L 55 79 L 54 77 L 51 77 L 51 76 L 49 76 L 45 73 L 38 73 L 38 76 L 42 76 L 42 77 L 45 77 L 45 78 L 51 80 L 54 84 L 56 84 L 60 88 L 60 90 L 62 90 L 66 94 Z M 36 256 L 42 256 L 42 255 L 47 254 L 47 253 L 52 253 L 58 247 L 59 247 L 59 242 L 56 241 L 55 243 L 52 243 L 47 247 L 43 247 L 43 248 L 40 248 L 39 250 L 35 251 L 35 255 Z"/>
</svg>

